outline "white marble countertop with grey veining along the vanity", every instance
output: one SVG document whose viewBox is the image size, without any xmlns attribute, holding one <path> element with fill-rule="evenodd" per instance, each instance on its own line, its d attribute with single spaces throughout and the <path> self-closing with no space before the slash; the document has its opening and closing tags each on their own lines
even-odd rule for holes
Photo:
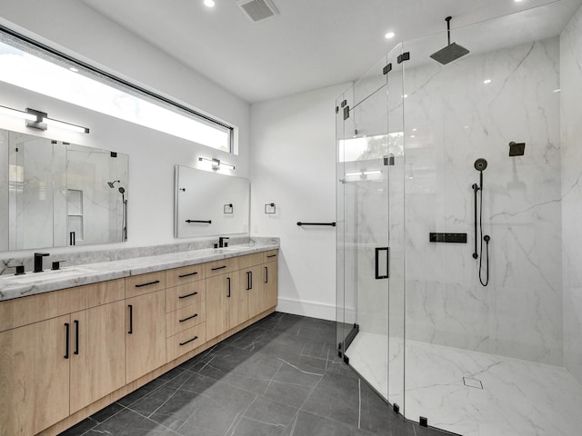
<svg viewBox="0 0 582 436">
<path fill-rule="evenodd" d="M 134 257 L 111 262 L 86 263 L 63 267 L 59 271 L 26 272 L 25 275 L 0 275 L 0 301 L 57 291 L 83 284 L 105 282 L 132 275 L 157 272 L 181 266 L 195 265 L 236 257 L 245 254 L 276 250 L 279 244 L 273 241 L 245 243 L 222 248 L 205 248 L 188 252 Z"/>
</svg>

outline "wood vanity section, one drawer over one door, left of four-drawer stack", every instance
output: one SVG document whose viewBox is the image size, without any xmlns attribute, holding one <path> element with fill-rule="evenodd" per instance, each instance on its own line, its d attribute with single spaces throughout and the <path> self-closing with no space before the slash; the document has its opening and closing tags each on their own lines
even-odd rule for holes
<svg viewBox="0 0 582 436">
<path fill-rule="evenodd" d="M 125 373 L 135 381 L 166 363 L 166 274 L 125 279 Z"/>
</svg>

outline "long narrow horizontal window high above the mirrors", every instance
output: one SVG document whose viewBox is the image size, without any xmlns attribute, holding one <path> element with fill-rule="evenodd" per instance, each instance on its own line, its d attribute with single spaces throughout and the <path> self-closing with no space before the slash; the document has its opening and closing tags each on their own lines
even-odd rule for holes
<svg viewBox="0 0 582 436">
<path fill-rule="evenodd" d="M 232 153 L 231 126 L 39 46 L 0 33 L 0 81 Z"/>
</svg>

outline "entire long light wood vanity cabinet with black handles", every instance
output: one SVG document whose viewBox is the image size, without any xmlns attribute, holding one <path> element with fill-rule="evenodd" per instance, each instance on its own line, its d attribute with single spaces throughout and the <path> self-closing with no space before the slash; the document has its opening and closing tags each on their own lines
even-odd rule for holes
<svg viewBox="0 0 582 436">
<path fill-rule="evenodd" d="M 0 436 L 54 436 L 273 312 L 277 253 L 0 302 Z"/>
</svg>

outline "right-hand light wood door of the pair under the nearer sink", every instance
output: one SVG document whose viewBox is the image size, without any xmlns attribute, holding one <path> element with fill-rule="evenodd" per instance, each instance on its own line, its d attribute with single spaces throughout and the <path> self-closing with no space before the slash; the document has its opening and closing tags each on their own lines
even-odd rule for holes
<svg viewBox="0 0 582 436">
<path fill-rule="evenodd" d="M 71 315 L 71 413 L 125 385 L 125 302 Z"/>
</svg>

